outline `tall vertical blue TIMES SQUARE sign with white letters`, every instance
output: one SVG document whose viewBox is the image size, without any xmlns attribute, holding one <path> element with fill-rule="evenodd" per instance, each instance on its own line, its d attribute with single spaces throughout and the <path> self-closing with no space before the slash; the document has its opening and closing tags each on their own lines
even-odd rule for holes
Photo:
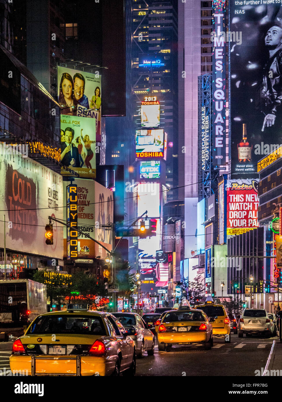
<svg viewBox="0 0 282 402">
<path fill-rule="evenodd" d="M 213 0 L 212 42 L 212 164 L 226 163 L 226 35 L 225 0 Z"/>
</svg>

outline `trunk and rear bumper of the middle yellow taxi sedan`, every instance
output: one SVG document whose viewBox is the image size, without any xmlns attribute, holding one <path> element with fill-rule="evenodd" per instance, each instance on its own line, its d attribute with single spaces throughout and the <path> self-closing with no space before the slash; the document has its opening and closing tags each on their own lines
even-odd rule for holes
<svg viewBox="0 0 282 402">
<path fill-rule="evenodd" d="M 202 330 L 201 325 L 193 321 L 163 322 L 165 331 L 158 332 L 158 341 L 173 344 L 206 343 L 210 334 Z"/>
</svg>

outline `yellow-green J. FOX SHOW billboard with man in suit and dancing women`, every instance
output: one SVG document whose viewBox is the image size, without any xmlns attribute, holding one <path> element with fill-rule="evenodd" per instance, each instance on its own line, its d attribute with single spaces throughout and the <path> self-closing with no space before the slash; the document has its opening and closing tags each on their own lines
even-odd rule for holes
<svg viewBox="0 0 282 402">
<path fill-rule="evenodd" d="M 61 115 L 61 163 L 80 177 L 96 177 L 95 120 Z"/>
</svg>

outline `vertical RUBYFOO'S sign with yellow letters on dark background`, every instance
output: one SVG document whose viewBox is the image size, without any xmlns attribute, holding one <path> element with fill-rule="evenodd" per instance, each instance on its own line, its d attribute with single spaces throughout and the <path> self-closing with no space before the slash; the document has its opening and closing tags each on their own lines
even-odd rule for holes
<svg viewBox="0 0 282 402">
<path fill-rule="evenodd" d="M 77 237 L 77 186 L 68 185 L 66 188 L 67 199 L 67 259 L 78 257 Z"/>
</svg>

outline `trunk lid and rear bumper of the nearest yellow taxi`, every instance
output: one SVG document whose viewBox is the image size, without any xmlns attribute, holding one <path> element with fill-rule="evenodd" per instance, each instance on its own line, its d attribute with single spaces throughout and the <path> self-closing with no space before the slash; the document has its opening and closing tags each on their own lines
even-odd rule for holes
<svg viewBox="0 0 282 402">
<path fill-rule="evenodd" d="M 27 370 L 28 375 L 105 375 L 106 357 L 91 356 L 89 350 L 100 335 L 79 337 L 57 334 L 56 337 L 22 336 L 25 352 L 10 356 L 10 369 Z M 111 367 L 113 370 L 113 367 Z"/>
</svg>

